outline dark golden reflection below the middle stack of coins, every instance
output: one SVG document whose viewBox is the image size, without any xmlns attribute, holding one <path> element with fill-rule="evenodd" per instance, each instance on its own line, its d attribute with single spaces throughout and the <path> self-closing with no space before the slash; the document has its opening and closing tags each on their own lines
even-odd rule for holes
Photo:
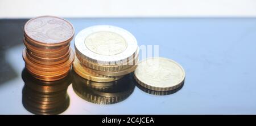
<svg viewBox="0 0 256 126">
<path fill-rule="evenodd" d="M 133 76 L 126 75 L 117 81 L 94 82 L 86 80 L 72 71 L 73 90 L 85 101 L 100 105 L 121 102 L 128 98 L 135 88 Z"/>
</svg>

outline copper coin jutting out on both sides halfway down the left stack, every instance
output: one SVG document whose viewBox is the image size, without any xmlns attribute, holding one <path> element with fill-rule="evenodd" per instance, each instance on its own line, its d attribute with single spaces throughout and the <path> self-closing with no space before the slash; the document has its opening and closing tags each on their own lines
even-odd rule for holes
<svg viewBox="0 0 256 126">
<path fill-rule="evenodd" d="M 70 67 L 72 65 L 72 62 L 75 59 L 75 54 L 73 53 L 73 50 L 71 49 L 71 55 L 66 62 L 57 64 L 57 65 L 47 66 L 47 65 L 32 62 L 30 59 L 28 59 L 27 54 L 26 54 L 26 48 L 24 48 L 23 49 L 23 59 L 27 65 L 29 65 L 31 67 L 35 67 L 40 71 L 59 71 L 63 68 Z"/>
</svg>

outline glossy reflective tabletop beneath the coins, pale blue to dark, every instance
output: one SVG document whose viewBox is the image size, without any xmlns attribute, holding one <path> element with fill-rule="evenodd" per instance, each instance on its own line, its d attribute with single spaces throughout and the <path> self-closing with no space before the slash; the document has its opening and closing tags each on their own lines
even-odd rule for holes
<svg viewBox="0 0 256 126">
<path fill-rule="evenodd" d="M 76 34 L 108 24 L 127 29 L 139 46 L 159 45 L 160 57 L 185 69 L 184 85 L 153 92 L 139 87 L 131 74 L 95 88 L 73 71 L 56 82 L 36 80 L 22 59 L 27 20 L 1 19 L 0 114 L 256 114 L 255 18 L 68 20 Z"/>
</svg>

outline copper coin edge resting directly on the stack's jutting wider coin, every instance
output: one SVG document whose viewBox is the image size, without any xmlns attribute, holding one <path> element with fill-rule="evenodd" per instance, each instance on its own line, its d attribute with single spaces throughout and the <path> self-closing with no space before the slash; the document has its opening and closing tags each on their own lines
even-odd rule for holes
<svg viewBox="0 0 256 126">
<path fill-rule="evenodd" d="M 28 59 L 32 60 L 35 63 L 39 63 L 39 64 L 43 64 L 43 65 L 56 65 L 56 64 L 60 64 L 63 62 L 66 62 L 69 59 L 69 55 L 71 55 L 71 53 L 69 53 L 68 51 L 68 55 L 65 54 L 65 57 L 60 57 L 60 58 L 55 58 L 55 59 L 45 59 L 45 58 L 39 58 L 39 57 L 31 57 L 30 54 L 27 53 L 27 57 Z"/>
</svg>

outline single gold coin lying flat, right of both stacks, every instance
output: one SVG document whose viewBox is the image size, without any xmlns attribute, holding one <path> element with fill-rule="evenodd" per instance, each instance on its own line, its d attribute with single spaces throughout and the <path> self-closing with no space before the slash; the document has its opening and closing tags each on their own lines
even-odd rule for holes
<svg viewBox="0 0 256 126">
<path fill-rule="evenodd" d="M 167 58 L 148 58 L 139 62 L 134 71 L 139 85 L 150 90 L 168 91 L 179 88 L 185 80 L 180 64 Z"/>
</svg>

